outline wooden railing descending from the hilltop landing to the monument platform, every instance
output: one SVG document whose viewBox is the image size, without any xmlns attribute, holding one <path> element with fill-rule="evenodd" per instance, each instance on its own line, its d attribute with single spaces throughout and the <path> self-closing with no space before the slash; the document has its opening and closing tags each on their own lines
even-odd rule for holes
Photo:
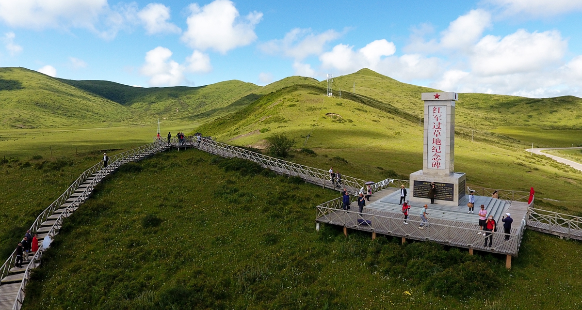
<svg viewBox="0 0 582 310">
<path fill-rule="evenodd" d="M 166 141 L 166 143 L 168 142 Z M 172 138 L 170 143 L 179 143 L 179 141 L 176 138 Z M 271 169 L 281 174 L 288 174 L 289 176 L 301 177 L 301 179 L 304 180 L 309 180 L 309 177 L 320 179 L 323 180 L 323 184 L 318 185 L 322 185 L 328 188 L 337 188 L 338 190 L 346 187 L 350 193 L 356 193 L 360 188 L 365 186 L 364 180 L 346 175 L 342 175 L 342 183 L 340 185 L 336 185 L 333 184 L 332 180 L 330 180 L 329 172 L 327 170 L 313 168 L 310 166 L 300 165 L 299 163 L 288 162 L 283 159 L 262 155 L 257 152 L 249 151 L 248 149 L 233 147 L 232 145 L 217 142 L 211 140 L 210 138 L 202 138 L 200 141 L 197 141 L 195 138 L 186 138 L 180 145 L 184 147 L 195 147 L 201 149 L 202 151 L 226 158 L 236 157 L 247 159 L 249 161 L 258 163 L 263 168 Z"/>
</svg>

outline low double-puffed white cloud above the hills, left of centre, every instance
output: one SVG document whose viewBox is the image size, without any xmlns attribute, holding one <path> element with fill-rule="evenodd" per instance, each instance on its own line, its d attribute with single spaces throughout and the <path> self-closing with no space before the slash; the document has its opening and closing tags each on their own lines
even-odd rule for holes
<svg viewBox="0 0 582 310">
<path fill-rule="evenodd" d="M 140 73 L 150 77 L 148 84 L 154 87 L 178 86 L 190 82 L 184 76 L 186 72 L 205 73 L 212 70 L 208 55 L 194 51 L 186 58 L 186 63 L 171 59 L 172 51 L 165 47 L 157 47 L 145 53 L 145 63 Z"/>
</svg>

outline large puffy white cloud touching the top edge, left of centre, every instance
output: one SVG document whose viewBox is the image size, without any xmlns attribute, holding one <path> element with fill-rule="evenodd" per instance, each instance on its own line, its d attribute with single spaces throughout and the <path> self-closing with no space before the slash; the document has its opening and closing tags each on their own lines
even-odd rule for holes
<svg viewBox="0 0 582 310">
<path fill-rule="evenodd" d="M 214 49 L 226 54 L 230 49 L 257 40 L 254 27 L 262 19 L 260 12 L 251 12 L 240 19 L 239 11 L 229 0 L 215 0 L 202 8 L 192 3 L 189 8 L 188 29 L 182 40 L 192 48 Z"/>
</svg>

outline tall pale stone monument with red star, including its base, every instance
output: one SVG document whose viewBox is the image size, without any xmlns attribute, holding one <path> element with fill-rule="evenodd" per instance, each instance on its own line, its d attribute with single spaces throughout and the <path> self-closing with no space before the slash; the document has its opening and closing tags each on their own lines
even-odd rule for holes
<svg viewBox="0 0 582 310">
<path fill-rule="evenodd" d="M 435 204 L 458 206 L 465 195 L 465 174 L 455 172 L 456 92 L 423 92 L 423 170 L 410 174 L 410 201 L 430 203 L 435 183 Z"/>
</svg>

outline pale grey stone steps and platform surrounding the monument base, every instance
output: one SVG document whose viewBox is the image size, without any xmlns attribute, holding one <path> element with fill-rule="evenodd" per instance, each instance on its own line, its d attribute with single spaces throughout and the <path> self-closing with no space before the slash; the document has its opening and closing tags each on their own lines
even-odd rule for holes
<svg viewBox="0 0 582 310">
<path fill-rule="evenodd" d="M 382 192 L 384 191 L 376 193 L 375 195 L 377 195 L 377 197 L 374 197 L 374 195 L 372 195 L 372 197 L 376 199 L 372 199 L 371 202 L 368 202 L 365 208 L 378 209 L 387 212 L 396 213 L 401 212 L 402 205 L 399 205 L 400 191 L 395 190 L 392 193 L 386 193 L 387 195 L 385 195 L 384 197 L 381 197 L 381 195 L 384 194 Z M 432 219 L 453 220 L 455 222 L 466 222 L 466 223 L 478 223 L 479 222 L 478 212 L 481 209 L 480 206 L 485 205 L 487 215 L 488 216 L 493 215 L 495 222 L 501 223 L 502 216 L 506 212 L 508 212 L 508 209 L 512 204 L 512 201 L 508 200 L 475 195 L 475 213 L 467 213 L 467 211 L 469 211 L 469 208 L 467 208 L 467 202 L 469 202 L 469 195 L 465 195 L 459 202 L 458 206 L 442 205 L 438 204 L 438 201 L 436 204 L 427 204 L 428 216 Z M 417 216 L 420 214 L 421 209 L 425 205 L 424 202 L 416 201 L 410 201 L 409 204 L 411 206 L 409 214 Z"/>
</svg>

